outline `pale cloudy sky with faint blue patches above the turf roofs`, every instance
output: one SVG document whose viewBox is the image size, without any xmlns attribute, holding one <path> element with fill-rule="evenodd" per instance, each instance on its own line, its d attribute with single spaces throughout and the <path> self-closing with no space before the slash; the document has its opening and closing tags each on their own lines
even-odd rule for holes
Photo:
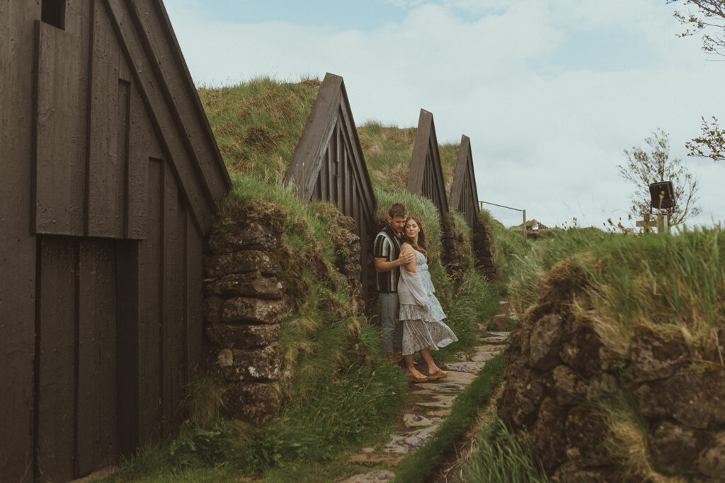
<svg viewBox="0 0 725 483">
<path fill-rule="evenodd" d="M 357 125 L 471 138 L 479 200 L 547 226 L 627 219 L 624 150 L 661 128 L 725 218 L 725 162 L 689 158 L 700 116 L 725 119 L 725 59 L 701 51 L 665 0 L 165 0 L 197 86 L 341 75 Z M 686 7 L 685 7 L 686 8 Z M 486 206 L 507 226 L 521 213 Z M 602 227 L 603 228 L 603 227 Z"/>
</svg>

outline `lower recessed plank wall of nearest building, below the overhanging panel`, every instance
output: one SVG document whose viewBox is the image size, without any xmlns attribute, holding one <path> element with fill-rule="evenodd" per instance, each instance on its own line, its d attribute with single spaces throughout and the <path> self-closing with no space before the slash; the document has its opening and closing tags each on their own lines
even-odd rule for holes
<svg viewBox="0 0 725 483">
<path fill-rule="evenodd" d="M 39 238 L 36 469 L 51 479 L 173 434 L 199 362 L 202 236 L 168 164 L 149 163 L 148 239 Z"/>
</svg>

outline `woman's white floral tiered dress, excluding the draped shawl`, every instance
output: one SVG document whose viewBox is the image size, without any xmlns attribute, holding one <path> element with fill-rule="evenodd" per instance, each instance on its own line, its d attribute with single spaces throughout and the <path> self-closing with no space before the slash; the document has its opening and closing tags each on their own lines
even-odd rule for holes
<svg viewBox="0 0 725 483">
<path fill-rule="evenodd" d="M 407 356 L 418 352 L 421 349 L 438 350 L 458 340 L 453 331 L 444 324 L 446 314 L 443 312 L 441 303 L 434 295 L 436 291 L 431 282 L 431 273 L 428 272 L 428 261 L 426 256 L 415 251 L 415 266 L 420 274 L 420 282 L 423 290 L 427 292 L 428 303 L 426 306 L 410 303 L 400 304 L 400 322 L 403 324 L 403 355 Z M 407 272 L 405 265 L 400 271 Z M 410 272 L 407 272 L 410 273 Z M 405 285 L 407 277 L 401 275 L 398 282 L 400 286 Z"/>
</svg>

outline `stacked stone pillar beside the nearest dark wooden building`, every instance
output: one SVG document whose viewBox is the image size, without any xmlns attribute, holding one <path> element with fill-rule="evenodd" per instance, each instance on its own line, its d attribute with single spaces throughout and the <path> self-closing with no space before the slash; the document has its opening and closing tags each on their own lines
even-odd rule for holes
<svg viewBox="0 0 725 483">
<path fill-rule="evenodd" d="M 227 385 L 232 416 L 265 421 L 281 405 L 280 322 L 292 313 L 277 261 L 279 235 L 249 222 L 236 232 L 213 232 L 204 263 L 207 370 Z"/>
</svg>

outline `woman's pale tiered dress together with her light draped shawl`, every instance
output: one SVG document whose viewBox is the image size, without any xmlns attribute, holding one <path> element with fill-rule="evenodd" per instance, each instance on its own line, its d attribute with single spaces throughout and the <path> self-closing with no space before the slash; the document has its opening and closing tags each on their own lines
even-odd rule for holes
<svg viewBox="0 0 725 483">
<path fill-rule="evenodd" d="M 426 256 L 415 251 L 415 267 L 418 273 L 411 273 L 400 267 L 398 297 L 400 300 L 400 322 L 403 324 L 403 355 L 407 356 L 421 349 L 438 350 L 458 338 L 444 324 L 446 314 L 431 282 Z"/>
</svg>

